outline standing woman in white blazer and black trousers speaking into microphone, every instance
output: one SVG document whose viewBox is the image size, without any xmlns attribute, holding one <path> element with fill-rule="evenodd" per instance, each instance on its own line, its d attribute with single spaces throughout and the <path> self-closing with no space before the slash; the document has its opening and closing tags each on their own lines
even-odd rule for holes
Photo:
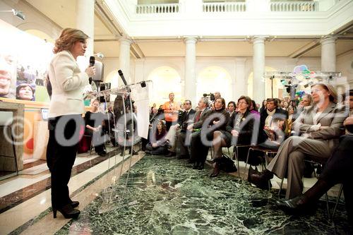
<svg viewBox="0 0 353 235">
<path fill-rule="evenodd" d="M 80 210 L 69 198 L 68 181 L 76 158 L 80 129 L 84 121 L 83 88 L 95 75 L 95 66 L 80 71 L 76 59 L 85 54 L 85 35 L 81 30 L 66 28 L 54 45 L 54 58 L 49 64 L 52 100 L 49 107 L 49 142 L 47 165 L 52 174 L 52 209 L 54 218 L 59 210 L 65 218 L 77 218 Z"/>
</svg>

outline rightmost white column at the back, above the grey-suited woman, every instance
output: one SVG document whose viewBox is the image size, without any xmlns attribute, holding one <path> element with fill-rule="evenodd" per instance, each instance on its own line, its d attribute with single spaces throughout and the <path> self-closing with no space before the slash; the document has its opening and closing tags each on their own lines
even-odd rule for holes
<svg viewBox="0 0 353 235">
<path fill-rule="evenodd" d="M 337 37 L 327 37 L 321 43 L 321 72 L 336 71 L 336 40 Z"/>
</svg>

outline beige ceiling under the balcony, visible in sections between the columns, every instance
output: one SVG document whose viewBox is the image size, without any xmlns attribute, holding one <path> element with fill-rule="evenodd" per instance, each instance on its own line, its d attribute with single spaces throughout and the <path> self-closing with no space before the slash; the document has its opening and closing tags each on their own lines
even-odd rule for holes
<svg viewBox="0 0 353 235">
<path fill-rule="evenodd" d="M 45 16 L 56 22 L 61 28 L 75 27 L 76 0 L 27 0 Z M 119 56 L 119 35 L 109 30 L 109 23 L 102 20 L 95 11 L 95 52 L 102 52 L 105 57 Z M 352 28 L 346 30 L 345 35 L 352 35 Z M 149 39 L 134 38 L 133 48 L 142 53 L 140 56 L 185 56 L 185 44 L 182 39 Z M 353 50 L 353 40 L 337 40 L 336 54 L 345 54 Z M 134 53 L 131 53 L 134 55 Z M 201 39 L 196 44 L 196 56 L 252 56 L 253 45 L 251 39 L 221 38 Z M 269 38 L 265 42 L 265 56 L 321 56 L 318 39 L 281 39 Z"/>
</svg>

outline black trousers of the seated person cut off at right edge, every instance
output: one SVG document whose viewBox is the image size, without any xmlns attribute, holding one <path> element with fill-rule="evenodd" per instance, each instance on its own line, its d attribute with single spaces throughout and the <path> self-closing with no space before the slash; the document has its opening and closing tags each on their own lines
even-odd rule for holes
<svg viewBox="0 0 353 235">
<path fill-rule="evenodd" d="M 329 185 L 342 183 L 349 225 L 353 226 L 353 135 L 342 135 L 340 144 L 328 159 L 320 178 Z"/>
</svg>

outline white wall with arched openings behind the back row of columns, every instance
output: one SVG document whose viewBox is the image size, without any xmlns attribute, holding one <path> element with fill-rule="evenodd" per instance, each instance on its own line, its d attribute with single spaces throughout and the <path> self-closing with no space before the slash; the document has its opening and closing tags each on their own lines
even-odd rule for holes
<svg viewBox="0 0 353 235">
<path fill-rule="evenodd" d="M 103 63 L 105 66 L 104 81 L 112 82 L 112 78 L 107 77 L 109 76 L 109 73 L 110 76 L 112 76 L 112 71 L 114 71 L 114 76 L 116 76 L 114 79 L 120 79 L 116 75 L 117 70 L 119 69 L 117 68 L 119 65 L 119 58 L 104 59 Z M 244 66 L 239 66 L 242 63 L 244 63 Z M 237 99 L 240 95 L 247 95 L 248 78 L 253 71 L 252 63 L 251 57 L 198 57 L 196 59 L 196 78 L 198 78 L 198 74 L 201 73 L 201 71 L 209 66 L 220 66 L 224 68 L 232 78 L 232 96 L 234 99 Z M 302 64 L 308 66 L 311 71 L 319 71 L 321 58 L 304 57 L 300 59 L 290 59 L 287 57 L 267 57 L 265 59 L 265 66 L 273 68 L 274 71 L 291 72 L 295 66 Z M 131 59 L 131 82 L 136 83 L 141 80 L 148 80 L 150 73 L 160 66 L 170 66 L 174 68 L 181 78 L 181 86 L 184 85 L 185 61 L 182 57 Z M 243 69 L 243 71 L 239 71 L 239 69 Z M 267 95 L 270 94 L 270 87 L 268 85 L 266 90 Z M 276 92 L 274 93 L 277 94 Z"/>
</svg>

